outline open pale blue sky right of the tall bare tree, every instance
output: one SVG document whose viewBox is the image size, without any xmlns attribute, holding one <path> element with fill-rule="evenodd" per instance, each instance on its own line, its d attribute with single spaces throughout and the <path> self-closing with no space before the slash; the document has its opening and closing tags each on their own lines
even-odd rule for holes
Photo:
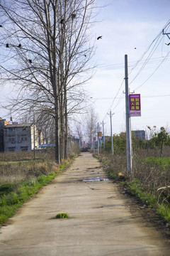
<svg viewBox="0 0 170 256">
<path fill-rule="evenodd" d="M 103 1 L 98 4 L 103 5 Z M 109 135 L 111 119 L 108 113 L 111 111 L 113 134 L 125 132 L 123 91 L 125 55 L 128 55 L 130 92 L 141 95 L 142 109 L 141 117 L 131 117 L 132 130 L 145 130 L 147 126 L 168 129 L 170 46 L 165 43 L 170 40 L 162 35 L 162 29 L 169 23 L 170 1 L 106 0 L 104 4 L 106 6 L 98 15 L 100 22 L 94 26 L 96 37 L 102 36 L 96 41 L 94 56 L 98 67 L 86 85 L 99 123 L 105 123 L 105 133 Z M 170 26 L 166 26 L 165 31 L 170 33 Z M 149 61 L 143 67 L 145 60 Z"/>
</svg>

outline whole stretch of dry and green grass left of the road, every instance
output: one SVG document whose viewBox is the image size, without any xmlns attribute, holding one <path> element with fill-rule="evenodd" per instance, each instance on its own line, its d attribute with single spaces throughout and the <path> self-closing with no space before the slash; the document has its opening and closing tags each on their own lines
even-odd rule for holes
<svg viewBox="0 0 170 256">
<path fill-rule="evenodd" d="M 28 162 L 24 167 L 23 163 L 18 163 L 18 169 L 16 169 L 16 164 L 13 167 L 10 163 L 11 169 L 6 169 L 6 171 L 2 171 L 0 167 L 0 227 L 42 186 L 50 183 L 55 176 L 64 171 L 75 157 L 63 161 L 61 166 L 55 164 L 55 161 L 47 160 Z M 13 174 L 13 168 L 15 174 Z M 11 174 L 16 177 L 14 182 Z"/>
</svg>

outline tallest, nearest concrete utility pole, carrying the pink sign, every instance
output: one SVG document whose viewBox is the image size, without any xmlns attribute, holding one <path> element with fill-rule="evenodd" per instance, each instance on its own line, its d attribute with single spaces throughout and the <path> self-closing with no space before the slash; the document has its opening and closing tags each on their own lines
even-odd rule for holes
<svg viewBox="0 0 170 256">
<path fill-rule="evenodd" d="M 127 151 L 127 175 L 132 175 L 132 132 L 130 122 L 130 102 L 128 85 L 128 55 L 125 55 L 125 109 L 126 109 L 126 151 Z"/>
</svg>

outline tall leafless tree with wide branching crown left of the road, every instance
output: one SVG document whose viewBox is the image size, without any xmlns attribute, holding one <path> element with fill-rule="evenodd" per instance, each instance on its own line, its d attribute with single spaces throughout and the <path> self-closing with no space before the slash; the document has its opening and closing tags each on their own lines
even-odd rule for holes
<svg viewBox="0 0 170 256">
<path fill-rule="evenodd" d="M 1 0 L 3 81 L 18 91 L 15 110 L 55 119 L 55 159 L 67 157 L 69 100 L 91 77 L 95 0 Z M 84 76 L 86 73 L 86 76 Z M 77 82 L 78 81 L 78 82 Z M 75 94 L 74 94 L 75 95 Z M 77 98 L 76 104 L 81 102 Z"/>
</svg>

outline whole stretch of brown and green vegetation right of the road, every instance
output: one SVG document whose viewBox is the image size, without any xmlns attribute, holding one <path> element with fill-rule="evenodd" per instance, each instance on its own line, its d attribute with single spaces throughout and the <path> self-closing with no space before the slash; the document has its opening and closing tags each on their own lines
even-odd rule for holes
<svg viewBox="0 0 170 256">
<path fill-rule="evenodd" d="M 133 177 L 126 175 L 126 156 L 101 154 L 99 160 L 106 166 L 110 178 L 126 188 L 166 223 L 170 223 L 170 159 L 146 157 L 145 154 L 133 158 Z"/>
</svg>

